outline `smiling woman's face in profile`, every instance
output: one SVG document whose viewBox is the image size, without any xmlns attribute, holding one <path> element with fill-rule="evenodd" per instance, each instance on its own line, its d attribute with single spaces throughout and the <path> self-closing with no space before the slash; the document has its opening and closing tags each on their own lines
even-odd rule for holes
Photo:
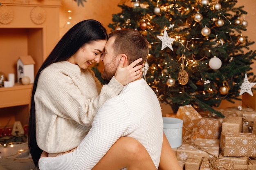
<svg viewBox="0 0 256 170">
<path fill-rule="evenodd" d="M 83 69 L 92 65 L 92 63 L 99 63 L 106 43 L 107 40 L 97 40 L 91 42 L 90 44 L 85 44 L 67 61 L 71 62 L 72 64 L 77 64 Z"/>
</svg>

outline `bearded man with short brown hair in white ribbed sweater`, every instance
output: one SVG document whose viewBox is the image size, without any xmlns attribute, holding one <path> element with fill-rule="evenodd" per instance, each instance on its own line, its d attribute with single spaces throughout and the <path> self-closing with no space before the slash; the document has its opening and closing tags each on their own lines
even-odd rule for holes
<svg viewBox="0 0 256 170">
<path fill-rule="evenodd" d="M 147 55 L 148 41 L 141 33 L 134 29 L 113 31 L 101 56 L 104 63 L 102 77 L 111 79 L 121 58 L 126 66 L 139 57 L 145 62 Z M 117 97 L 101 106 L 88 135 L 74 152 L 41 158 L 39 168 L 92 169 L 120 137 L 137 139 L 158 168 L 163 144 L 162 112 L 155 93 L 142 78 L 127 84 Z M 177 159 L 175 161 L 177 164 Z"/>
</svg>

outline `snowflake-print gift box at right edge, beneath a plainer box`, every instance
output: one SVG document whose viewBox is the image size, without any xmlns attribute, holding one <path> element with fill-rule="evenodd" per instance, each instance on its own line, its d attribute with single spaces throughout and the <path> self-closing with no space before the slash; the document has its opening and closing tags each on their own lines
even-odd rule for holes
<svg viewBox="0 0 256 170">
<path fill-rule="evenodd" d="M 256 135 L 221 132 L 220 153 L 223 157 L 256 157 Z"/>
</svg>

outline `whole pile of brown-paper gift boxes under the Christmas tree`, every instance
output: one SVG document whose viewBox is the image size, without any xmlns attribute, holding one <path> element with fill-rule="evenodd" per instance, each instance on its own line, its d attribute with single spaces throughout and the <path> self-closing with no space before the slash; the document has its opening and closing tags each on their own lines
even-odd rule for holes
<svg viewBox="0 0 256 170">
<path fill-rule="evenodd" d="M 184 170 L 256 170 L 256 110 L 218 110 L 225 118 L 180 106 L 182 145 L 173 148 Z M 255 128 L 253 128 L 255 127 Z"/>
</svg>

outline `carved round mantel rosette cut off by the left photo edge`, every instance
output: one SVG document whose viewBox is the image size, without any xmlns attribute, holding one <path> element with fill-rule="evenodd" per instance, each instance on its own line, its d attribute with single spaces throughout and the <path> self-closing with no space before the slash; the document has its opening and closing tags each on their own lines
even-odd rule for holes
<svg viewBox="0 0 256 170">
<path fill-rule="evenodd" d="M 0 6 L 0 23 L 9 24 L 13 20 L 13 10 L 5 5 Z"/>
</svg>

